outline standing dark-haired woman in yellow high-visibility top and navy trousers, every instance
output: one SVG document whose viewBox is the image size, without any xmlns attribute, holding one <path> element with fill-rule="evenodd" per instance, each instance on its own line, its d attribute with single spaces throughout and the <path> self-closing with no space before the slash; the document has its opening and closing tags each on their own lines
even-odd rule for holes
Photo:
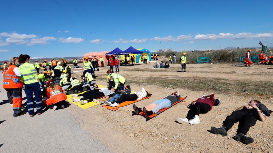
<svg viewBox="0 0 273 153">
<path fill-rule="evenodd" d="M 30 117 L 34 116 L 34 108 L 33 108 L 33 100 L 32 95 L 34 93 L 36 100 L 36 109 L 37 114 L 40 115 L 43 113 L 41 106 L 41 88 L 42 83 L 40 82 L 37 71 L 33 64 L 29 63 L 30 57 L 29 55 L 20 55 L 19 56 L 19 71 L 21 72 L 21 81 L 25 83 L 25 94 L 27 96 L 27 108 Z"/>
</svg>

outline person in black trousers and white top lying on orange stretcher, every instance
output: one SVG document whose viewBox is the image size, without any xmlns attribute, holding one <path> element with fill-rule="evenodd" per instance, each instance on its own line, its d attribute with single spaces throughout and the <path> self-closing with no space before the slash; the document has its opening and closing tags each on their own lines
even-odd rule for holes
<svg viewBox="0 0 273 153">
<path fill-rule="evenodd" d="M 119 106 L 119 104 L 121 104 L 124 101 L 141 100 L 142 98 L 144 98 L 146 96 L 150 96 L 150 95 L 151 94 L 149 94 L 147 91 L 145 91 L 144 88 L 142 88 L 141 91 L 133 92 L 132 94 L 128 94 L 126 92 L 116 94 L 115 96 L 111 97 L 110 99 L 104 101 L 104 103 L 109 106 L 116 107 L 116 106 Z"/>
</svg>

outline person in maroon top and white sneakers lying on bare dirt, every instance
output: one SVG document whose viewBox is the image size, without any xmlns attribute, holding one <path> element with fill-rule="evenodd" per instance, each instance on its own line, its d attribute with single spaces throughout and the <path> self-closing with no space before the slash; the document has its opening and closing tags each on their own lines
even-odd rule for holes
<svg viewBox="0 0 273 153">
<path fill-rule="evenodd" d="M 221 100 L 214 99 L 214 94 L 203 95 L 197 100 L 191 102 L 188 106 L 190 108 L 186 118 L 176 118 L 176 121 L 181 124 L 199 124 L 199 114 L 206 114 L 212 110 L 212 106 L 218 106 Z"/>
</svg>

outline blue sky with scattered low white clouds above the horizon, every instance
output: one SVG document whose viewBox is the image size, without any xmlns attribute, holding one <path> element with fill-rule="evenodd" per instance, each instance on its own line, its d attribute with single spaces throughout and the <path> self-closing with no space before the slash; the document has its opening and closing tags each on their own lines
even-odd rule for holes
<svg viewBox="0 0 273 153">
<path fill-rule="evenodd" d="M 262 10 L 262 6 L 266 9 Z M 0 1 L 0 60 L 273 46 L 272 1 Z M 100 40 L 102 40 L 100 42 Z"/>
</svg>

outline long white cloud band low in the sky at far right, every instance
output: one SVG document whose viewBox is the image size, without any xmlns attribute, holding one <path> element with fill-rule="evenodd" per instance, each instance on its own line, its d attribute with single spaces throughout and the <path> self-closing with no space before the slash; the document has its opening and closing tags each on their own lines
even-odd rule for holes
<svg viewBox="0 0 273 153">
<path fill-rule="evenodd" d="M 269 38 L 273 37 L 273 33 L 249 33 L 242 32 L 237 34 L 232 33 L 219 33 L 218 35 L 212 34 L 198 34 L 195 36 L 194 40 L 217 40 L 217 39 L 251 39 L 251 38 Z"/>
</svg>

